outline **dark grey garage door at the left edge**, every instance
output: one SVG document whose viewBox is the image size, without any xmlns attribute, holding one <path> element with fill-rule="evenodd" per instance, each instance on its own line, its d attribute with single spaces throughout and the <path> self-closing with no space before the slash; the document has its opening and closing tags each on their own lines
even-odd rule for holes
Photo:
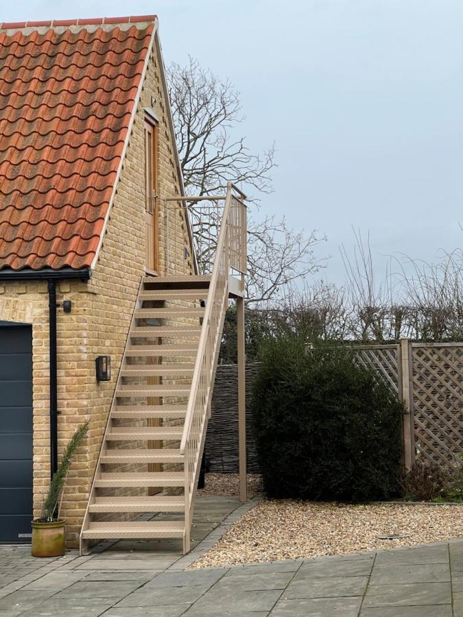
<svg viewBox="0 0 463 617">
<path fill-rule="evenodd" d="M 0 542 L 30 542 L 32 326 L 0 322 Z"/>
</svg>

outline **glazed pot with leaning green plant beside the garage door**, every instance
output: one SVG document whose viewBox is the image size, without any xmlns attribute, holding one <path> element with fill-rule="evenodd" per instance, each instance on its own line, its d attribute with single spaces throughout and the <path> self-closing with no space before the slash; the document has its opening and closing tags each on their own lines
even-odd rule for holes
<svg viewBox="0 0 463 617">
<path fill-rule="evenodd" d="M 75 450 L 80 446 L 87 430 L 88 420 L 79 426 L 71 437 L 64 450 L 62 461 L 51 479 L 47 496 L 43 501 L 42 515 L 32 521 L 32 557 L 64 555 L 65 521 L 60 518 L 62 492 Z"/>
</svg>

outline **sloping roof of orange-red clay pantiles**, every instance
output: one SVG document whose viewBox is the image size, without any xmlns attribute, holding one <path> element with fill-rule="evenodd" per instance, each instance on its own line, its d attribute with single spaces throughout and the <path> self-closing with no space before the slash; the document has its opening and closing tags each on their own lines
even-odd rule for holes
<svg viewBox="0 0 463 617">
<path fill-rule="evenodd" d="M 0 25 L 0 269 L 91 265 L 154 19 Z"/>
</svg>

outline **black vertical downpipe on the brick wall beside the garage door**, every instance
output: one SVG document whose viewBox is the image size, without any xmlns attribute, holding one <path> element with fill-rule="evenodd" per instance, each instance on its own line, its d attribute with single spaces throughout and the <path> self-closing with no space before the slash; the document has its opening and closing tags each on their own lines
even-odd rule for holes
<svg viewBox="0 0 463 617">
<path fill-rule="evenodd" d="M 56 282 L 48 280 L 50 346 L 50 471 L 58 469 L 58 370 L 56 361 Z"/>
</svg>

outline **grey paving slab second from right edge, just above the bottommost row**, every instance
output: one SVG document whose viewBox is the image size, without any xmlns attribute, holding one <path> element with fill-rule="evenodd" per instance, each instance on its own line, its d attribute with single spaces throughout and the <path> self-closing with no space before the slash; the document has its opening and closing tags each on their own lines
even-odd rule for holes
<svg viewBox="0 0 463 617">
<path fill-rule="evenodd" d="M 450 583 L 369 585 L 364 607 L 450 604 Z"/>
</svg>

